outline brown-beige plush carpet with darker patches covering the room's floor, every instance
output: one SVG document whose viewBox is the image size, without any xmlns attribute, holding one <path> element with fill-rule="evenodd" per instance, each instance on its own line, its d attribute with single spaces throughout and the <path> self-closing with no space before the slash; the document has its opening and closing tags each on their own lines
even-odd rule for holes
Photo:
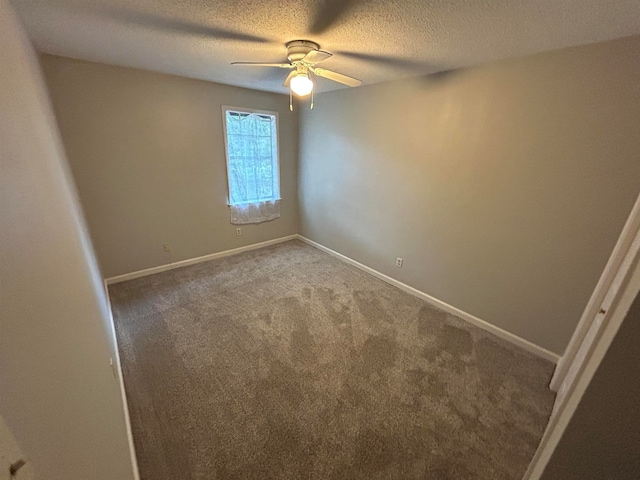
<svg viewBox="0 0 640 480">
<path fill-rule="evenodd" d="M 110 287 L 143 480 L 520 479 L 553 365 L 299 241 Z"/>
</svg>

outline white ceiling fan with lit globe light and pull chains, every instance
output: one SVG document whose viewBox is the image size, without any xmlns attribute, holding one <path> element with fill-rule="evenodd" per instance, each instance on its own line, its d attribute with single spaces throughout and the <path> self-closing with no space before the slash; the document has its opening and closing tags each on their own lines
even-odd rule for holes
<svg viewBox="0 0 640 480">
<path fill-rule="evenodd" d="M 260 62 L 233 62 L 231 65 L 244 65 L 249 67 L 275 67 L 292 70 L 282 84 L 289 88 L 289 109 L 293 110 L 293 94 L 306 97 L 311 94 L 311 109 L 313 109 L 313 80 L 311 75 L 324 77 L 334 82 L 342 83 L 350 87 L 358 87 L 362 82 L 356 78 L 342 73 L 316 67 L 316 65 L 333 54 L 320 50 L 320 45 L 309 40 L 293 40 L 286 44 L 288 63 L 260 63 Z"/>
</svg>

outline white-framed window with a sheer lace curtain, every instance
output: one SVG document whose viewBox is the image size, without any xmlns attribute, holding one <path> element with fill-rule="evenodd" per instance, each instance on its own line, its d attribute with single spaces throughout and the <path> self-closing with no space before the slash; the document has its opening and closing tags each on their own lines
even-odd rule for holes
<svg viewBox="0 0 640 480">
<path fill-rule="evenodd" d="M 231 223 L 260 223 L 280 216 L 278 116 L 223 107 Z"/>
</svg>

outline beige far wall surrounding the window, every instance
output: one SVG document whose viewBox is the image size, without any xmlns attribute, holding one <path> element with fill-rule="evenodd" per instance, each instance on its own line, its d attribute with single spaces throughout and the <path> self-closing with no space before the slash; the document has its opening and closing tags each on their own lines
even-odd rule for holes
<svg viewBox="0 0 640 480">
<path fill-rule="evenodd" d="M 297 232 L 298 116 L 286 96 L 41 62 L 105 277 Z M 243 226 L 240 237 L 229 221 L 222 105 L 279 113 L 281 218 Z"/>
</svg>

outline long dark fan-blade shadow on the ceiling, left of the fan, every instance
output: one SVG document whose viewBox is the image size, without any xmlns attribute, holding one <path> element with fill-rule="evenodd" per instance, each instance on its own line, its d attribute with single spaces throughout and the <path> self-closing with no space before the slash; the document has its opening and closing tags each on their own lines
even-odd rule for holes
<svg viewBox="0 0 640 480">
<path fill-rule="evenodd" d="M 150 30 L 164 30 L 172 33 L 183 33 L 216 40 L 235 40 L 239 42 L 269 43 L 271 40 L 257 35 L 237 32 L 198 22 L 167 18 L 153 13 L 144 13 L 129 8 L 105 7 L 101 14 L 128 25 L 139 25 Z M 96 10 L 92 10 L 93 14 Z"/>
</svg>

